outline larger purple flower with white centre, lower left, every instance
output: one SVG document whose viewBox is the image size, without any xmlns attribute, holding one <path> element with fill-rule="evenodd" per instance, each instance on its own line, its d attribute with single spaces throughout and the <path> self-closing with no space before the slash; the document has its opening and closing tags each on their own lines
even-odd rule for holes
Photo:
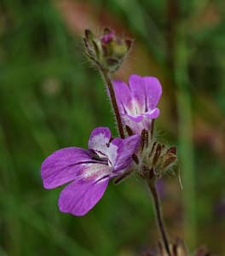
<svg viewBox="0 0 225 256">
<path fill-rule="evenodd" d="M 55 189 L 69 183 L 61 191 L 60 210 L 82 216 L 101 199 L 109 179 L 124 174 L 130 167 L 139 141 L 136 135 L 112 139 L 108 128 L 95 128 L 88 150 L 62 148 L 43 161 L 43 186 Z"/>
</svg>

